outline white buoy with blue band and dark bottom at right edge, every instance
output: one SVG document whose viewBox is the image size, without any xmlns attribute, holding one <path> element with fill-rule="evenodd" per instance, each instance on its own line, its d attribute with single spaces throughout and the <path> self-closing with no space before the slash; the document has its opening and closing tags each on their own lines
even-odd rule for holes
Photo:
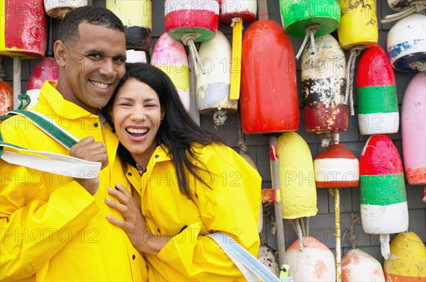
<svg viewBox="0 0 426 282">
<path fill-rule="evenodd" d="M 426 72 L 425 29 L 426 16 L 420 13 L 413 13 L 392 26 L 387 45 L 389 60 L 394 69 L 400 72 Z"/>
</svg>

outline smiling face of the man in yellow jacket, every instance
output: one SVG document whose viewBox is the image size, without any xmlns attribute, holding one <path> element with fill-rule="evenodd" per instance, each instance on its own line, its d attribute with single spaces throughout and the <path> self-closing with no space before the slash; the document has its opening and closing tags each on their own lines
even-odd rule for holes
<svg viewBox="0 0 426 282">
<path fill-rule="evenodd" d="M 126 38 L 119 30 L 80 23 L 79 38 L 72 44 L 55 43 L 55 57 L 60 66 L 60 94 L 96 114 L 126 72 Z"/>
</svg>

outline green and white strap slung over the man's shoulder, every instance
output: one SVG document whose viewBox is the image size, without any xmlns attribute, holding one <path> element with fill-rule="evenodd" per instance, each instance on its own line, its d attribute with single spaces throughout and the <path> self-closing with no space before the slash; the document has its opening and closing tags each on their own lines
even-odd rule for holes
<svg viewBox="0 0 426 282">
<path fill-rule="evenodd" d="M 7 117 L 12 115 L 22 115 L 33 121 L 40 130 L 43 130 L 43 132 L 58 141 L 60 145 L 67 149 L 70 149 L 70 147 L 79 141 L 76 137 L 70 135 L 69 132 L 60 128 L 60 126 L 53 120 L 50 120 L 40 113 L 33 111 L 10 111 Z M 15 150 L 31 154 L 4 151 L 3 147 L 10 147 Z M 38 154 L 40 156 L 35 156 L 33 154 Z M 102 166 L 101 162 L 89 162 L 84 159 L 77 159 L 63 154 L 28 150 L 26 148 L 4 142 L 1 134 L 0 158 L 5 162 L 9 162 L 9 164 L 16 164 L 23 167 L 29 167 L 31 169 L 50 172 L 52 174 L 61 174 L 80 179 L 96 178 L 99 176 L 99 171 Z"/>
</svg>

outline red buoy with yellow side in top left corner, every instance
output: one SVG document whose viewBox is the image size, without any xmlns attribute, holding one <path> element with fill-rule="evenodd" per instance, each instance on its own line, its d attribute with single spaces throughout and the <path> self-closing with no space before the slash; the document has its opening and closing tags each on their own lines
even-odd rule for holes
<svg viewBox="0 0 426 282">
<path fill-rule="evenodd" d="M 9 0 L 0 9 L 0 55 L 33 59 L 47 47 L 43 0 Z"/>
</svg>

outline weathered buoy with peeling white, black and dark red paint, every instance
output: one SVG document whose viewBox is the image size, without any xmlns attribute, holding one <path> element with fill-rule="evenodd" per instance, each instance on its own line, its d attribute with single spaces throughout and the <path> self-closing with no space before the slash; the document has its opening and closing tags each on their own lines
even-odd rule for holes
<svg viewBox="0 0 426 282">
<path fill-rule="evenodd" d="M 315 38 L 315 45 L 315 54 L 305 50 L 301 63 L 305 130 L 342 132 L 349 123 L 344 52 L 332 35 Z"/>
</svg>

